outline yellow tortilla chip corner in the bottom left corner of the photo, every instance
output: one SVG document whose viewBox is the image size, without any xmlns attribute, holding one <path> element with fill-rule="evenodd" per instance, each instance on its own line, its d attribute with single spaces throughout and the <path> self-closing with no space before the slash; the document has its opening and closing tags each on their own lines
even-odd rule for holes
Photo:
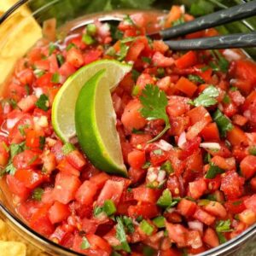
<svg viewBox="0 0 256 256">
<path fill-rule="evenodd" d="M 0 241 L 1 256 L 26 256 L 26 246 L 19 241 Z"/>
</svg>

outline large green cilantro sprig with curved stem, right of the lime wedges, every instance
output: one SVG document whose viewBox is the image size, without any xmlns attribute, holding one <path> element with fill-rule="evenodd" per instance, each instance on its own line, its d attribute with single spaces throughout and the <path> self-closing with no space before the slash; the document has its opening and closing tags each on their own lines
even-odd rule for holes
<svg viewBox="0 0 256 256">
<path fill-rule="evenodd" d="M 140 112 L 144 118 L 148 121 L 163 119 L 166 122 L 165 129 L 161 131 L 157 137 L 148 141 L 148 143 L 152 143 L 162 137 L 166 131 L 171 128 L 168 115 L 166 114 L 168 104 L 166 93 L 153 84 L 147 84 L 143 90 L 142 96 L 140 96 L 140 101 L 143 104 L 143 108 L 140 109 Z"/>
</svg>

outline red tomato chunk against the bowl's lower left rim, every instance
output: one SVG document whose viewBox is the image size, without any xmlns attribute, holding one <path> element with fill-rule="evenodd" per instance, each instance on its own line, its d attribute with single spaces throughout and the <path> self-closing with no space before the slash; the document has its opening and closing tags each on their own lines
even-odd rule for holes
<svg viewBox="0 0 256 256">
<path fill-rule="evenodd" d="M 30 195 L 31 189 L 26 188 L 25 184 L 12 175 L 6 176 L 6 182 L 9 186 L 10 192 L 20 197 L 21 201 L 26 201 Z"/>
</svg>

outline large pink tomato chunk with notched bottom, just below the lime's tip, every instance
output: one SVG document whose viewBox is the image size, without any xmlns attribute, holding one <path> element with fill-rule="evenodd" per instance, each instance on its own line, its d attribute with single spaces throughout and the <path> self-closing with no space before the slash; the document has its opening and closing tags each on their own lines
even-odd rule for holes
<svg viewBox="0 0 256 256">
<path fill-rule="evenodd" d="M 108 180 L 97 198 L 97 205 L 102 206 L 104 201 L 111 199 L 115 205 L 119 204 L 119 200 L 124 190 L 124 182 Z"/>
</svg>

